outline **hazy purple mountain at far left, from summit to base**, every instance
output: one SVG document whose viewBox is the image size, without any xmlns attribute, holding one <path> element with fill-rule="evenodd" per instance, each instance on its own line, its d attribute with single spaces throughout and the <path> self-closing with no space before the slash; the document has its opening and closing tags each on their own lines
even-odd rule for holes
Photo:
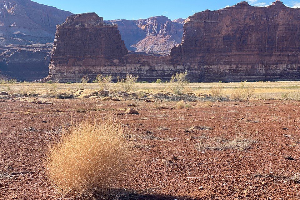
<svg viewBox="0 0 300 200">
<path fill-rule="evenodd" d="M 27 81 L 47 76 L 56 25 L 71 14 L 30 0 L 0 0 L 0 71 Z"/>
</svg>

